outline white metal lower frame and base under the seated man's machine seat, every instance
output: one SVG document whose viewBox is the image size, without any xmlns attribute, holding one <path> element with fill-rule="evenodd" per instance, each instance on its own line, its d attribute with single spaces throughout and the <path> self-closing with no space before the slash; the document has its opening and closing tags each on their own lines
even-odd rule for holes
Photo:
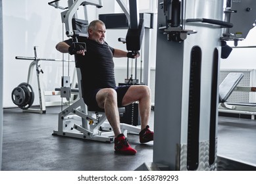
<svg viewBox="0 0 256 184">
<path fill-rule="evenodd" d="M 75 137 L 80 139 L 90 139 L 93 141 L 103 141 L 113 143 L 114 133 L 111 126 L 106 122 L 107 117 L 104 112 L 88 111 L 88 107 L 82 98 L 81 73 L 78 74 L 78 101 L 66 107 L 59 113 L 58 130 L 53 131 L 53 135 Z M 121 109 L 122 110 L 122 109 Z M 140 133 L 140 127 L 128 124 L 120 124 L 122 133 Z"/>
</svg>

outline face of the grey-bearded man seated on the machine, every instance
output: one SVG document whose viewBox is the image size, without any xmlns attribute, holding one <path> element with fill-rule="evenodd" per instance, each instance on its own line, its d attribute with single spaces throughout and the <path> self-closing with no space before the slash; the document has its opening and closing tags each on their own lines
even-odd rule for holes
<svg viewBox="0 0 256 184">
<path fill-rule="evenodd" d="M 106 28 L 104 25 L 97 23 L 95 29 L 89 29 L 89 38 L 103 44 L 105 41 Z"/>
</svg>

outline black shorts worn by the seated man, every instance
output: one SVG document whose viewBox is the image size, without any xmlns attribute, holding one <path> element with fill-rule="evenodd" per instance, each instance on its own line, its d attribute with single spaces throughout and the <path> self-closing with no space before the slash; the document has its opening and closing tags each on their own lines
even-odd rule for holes
<svg viewBox="0 0 256 184">
<path fill-rule="evenodd" d="M 117 93 L 118 107 L 122 106 L 122 99 L 124 98 L 124 95 L 126 94 L 129 87 L 130 87 L 130 85 L 120 85 L 120 86 L 116 86 L 116 88 L 114 88 Z M 88 110 L 103 111 L 103 109 L 99 108 L 97 101 L 96 101 L 96 94 L 99 92 L 99 90 L 101 90 L 101 89 L 92 89 L 92 90 L 86 91 L 86 93 L 84 93 L 84 95 L 83 95 L 84 103 L 87 104 Z"/>
</svg>

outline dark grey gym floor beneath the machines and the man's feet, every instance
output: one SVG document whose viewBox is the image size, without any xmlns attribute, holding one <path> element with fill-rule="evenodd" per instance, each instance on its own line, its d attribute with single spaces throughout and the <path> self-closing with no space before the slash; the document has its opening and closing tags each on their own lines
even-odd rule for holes
<svg viewBox="0 0 256 184">
<path fill-rule="evenodd" d="M 46 114 L 3 110 L 2 170 L 136 170 L 153 161 L 153 142 L 140 144 L 138 135 L 128 135 L 138 150 L 135 156 L 115 154 L 114 144 L 53 136 L 61 107 L 47 107 Z M 151 122 L 153 122 L 151 113 Z M 150 124 L 153 127 L 153 124 Z M 218 158 L 236 160 L 256 167 L 256 120 L 220 116 Z M 240 170 L 243 170 L 240 167 Z M 245 170 L 247 170 L 245 168 Z"/>
</svg>

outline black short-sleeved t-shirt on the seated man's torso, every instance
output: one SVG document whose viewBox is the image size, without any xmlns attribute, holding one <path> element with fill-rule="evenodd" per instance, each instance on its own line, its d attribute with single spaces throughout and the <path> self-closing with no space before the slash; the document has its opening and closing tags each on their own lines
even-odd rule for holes
<svg viewBox="0 0 256 184">
<path fill-rule="evenodd" d="M 72 39 L 64 41 L 72 44 Z M 97 43 L 94 40 L 78 37 L 78 42 L 86 43 L 86 55 L 75 55 L 76 67 L 82 74 L 83 92 L 93 89 L 115 88 L 115 73 L 113 54 L 115 49 L 107 43 Z"/>
</svg>

